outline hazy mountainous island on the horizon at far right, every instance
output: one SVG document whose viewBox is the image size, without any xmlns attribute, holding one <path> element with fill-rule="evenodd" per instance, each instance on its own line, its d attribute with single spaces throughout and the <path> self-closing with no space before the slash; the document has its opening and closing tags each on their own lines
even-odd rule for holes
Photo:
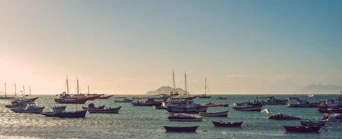
<svg viewBox="0 0 342 139">
<path fill-rule="evenodd" d="M 329 94 L 334 94 L 334 93 L 338 93 L 339 90 L 342 90 L 342 86 L 311 84 L 307 87 L 300 89 L 298 91 L 298 93 L 329 93 Z"/>
</svg>

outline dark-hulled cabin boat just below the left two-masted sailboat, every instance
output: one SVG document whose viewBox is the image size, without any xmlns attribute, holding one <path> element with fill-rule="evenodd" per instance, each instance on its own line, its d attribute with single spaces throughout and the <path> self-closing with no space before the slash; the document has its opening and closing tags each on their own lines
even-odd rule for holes
<svg viewBox="0 0 342 139">
<path fill-rule="evenodd" d="M 66 106 L 51 107 L 53 112 L 42 113 L 43 116 L 48 117 L 85 117 L 87 110 L 65 112 Z"/>
</svg>

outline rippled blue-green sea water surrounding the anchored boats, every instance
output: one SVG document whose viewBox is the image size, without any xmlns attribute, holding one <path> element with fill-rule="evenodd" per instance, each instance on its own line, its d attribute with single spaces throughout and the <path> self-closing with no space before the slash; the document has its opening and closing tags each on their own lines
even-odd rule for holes
<svg viewBox="0 0 342 139">
<path fill-rule="evenodd" d="M 43 112 L 52 111 L 50 107 L 54 106 L 54 95 L 36 95 L 36 105 L 43 106 Z M 144 95 L 115 95 L 115 97 L 132 97 Z M 217 100 L 219 95 L 212 95 L 212 98 L 195 98 L 196 102 L 202 104 L 213 102 L 231 106 L 235 102 L 243 100 L 254 101 L 255 95 L 220 95 L 227 97 L 226 100 Z M 262 95 L 258 95 L 262 96 Z M 263 95 L 267 96 L 267 95 Z M 313 102 L 312 97 L 307 95 L 279 94 L 273 95 L 278 99 L 287 97 L 299 97 Z M 337 97 L 338 94 L 315 94 L 315 100 Z M 20 114 L 14 113 L 4 105 L 9 104 L 11 100 L 0 100 L 0 139 L 101 139 L 101 138 L 140 138 L 140 139 L 209 139 L 209 138 L 342 138 L 341 122 L 327 122 L 324 129 L 319 133 L 287 133 L 283 125 L 299 126 L 298 120 L 271 120 L 267 114 L 260 112 L 236 111 L 231 107 L 227 117 L 204 117 L 199 122 L 177 122 L 167 119 L 166 110 L 154 110 L 152 107 L 133 106 L 130 103 L 116 103 L 114 96 L 109 99 L 87 101 L 86 104 L 66 104 L 66 111 L 81 110 L 82 106 L 87 106 L 93 102 L 96 106 L 106 105 L 107 107 L 122 106 L 118 114 L 89 114 L 85 118 L 55 118 L 45 117 L 40 114 Z M 57 104 L 56 104 L 57 105 Z M 302 116 L 305 118 L 321 120 L 322 114 L 317 108 L 289 108 L 285 105 L 266 105 L 271 112 L 280 111 L 285 114 Z M 263 108 L 265 109 L 265 107 Z M 222 108 L 211 107 L 208 112 L 218 112 Z M 198 116 L 198 114 L 197 114 Z M 241 127 L 214 127 L 212 120 L 222 120 L 228 122 L 244 121 Z M 250 126 L 246 126 L 246 124 Z M 174 133 L 166 132 L 163 126 L 194 126 L 199 125 L 196 132 L 193 133 Z M 206 131 L 204 131 L 204 130 Z"/>
</svg>

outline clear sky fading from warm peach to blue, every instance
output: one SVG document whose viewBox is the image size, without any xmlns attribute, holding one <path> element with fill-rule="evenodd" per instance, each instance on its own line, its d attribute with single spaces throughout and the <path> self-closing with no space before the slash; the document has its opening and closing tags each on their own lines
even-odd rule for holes
<svg viewBox="0 0 342 139">
<path fill-rule="evenodd" d="M 342 86 L 341 0 L 0 0 L 6 92 L 297 93 Z M 0 87 L 4 92 L 4 85 Z"/>
</svg>

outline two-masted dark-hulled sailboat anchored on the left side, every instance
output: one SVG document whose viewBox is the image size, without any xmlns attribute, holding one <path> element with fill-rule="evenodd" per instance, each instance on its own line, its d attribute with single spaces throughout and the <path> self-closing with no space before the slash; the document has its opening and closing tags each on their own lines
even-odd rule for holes
<svg viewBox="0 0 342 139">
<path fill-rule="evenodd" d="M 60 104 L 85 104 L 85 102 L 88 100 L 87 97 L 85 97 L 85 98 L 79 97 L 78 79 L 77 79 L 77 97 L 71 97 L 69 95 L 69 85 L 68 85 L 68 78 L 67 77 L 66 77 L 66 87 L 67 87 L 67 93 L 63 92 L 62 94 L 56 95 L 56 96 L 59 96 L 59 98 L 55 98 L 56 103 L 60 103 Z"/>
</svg>

